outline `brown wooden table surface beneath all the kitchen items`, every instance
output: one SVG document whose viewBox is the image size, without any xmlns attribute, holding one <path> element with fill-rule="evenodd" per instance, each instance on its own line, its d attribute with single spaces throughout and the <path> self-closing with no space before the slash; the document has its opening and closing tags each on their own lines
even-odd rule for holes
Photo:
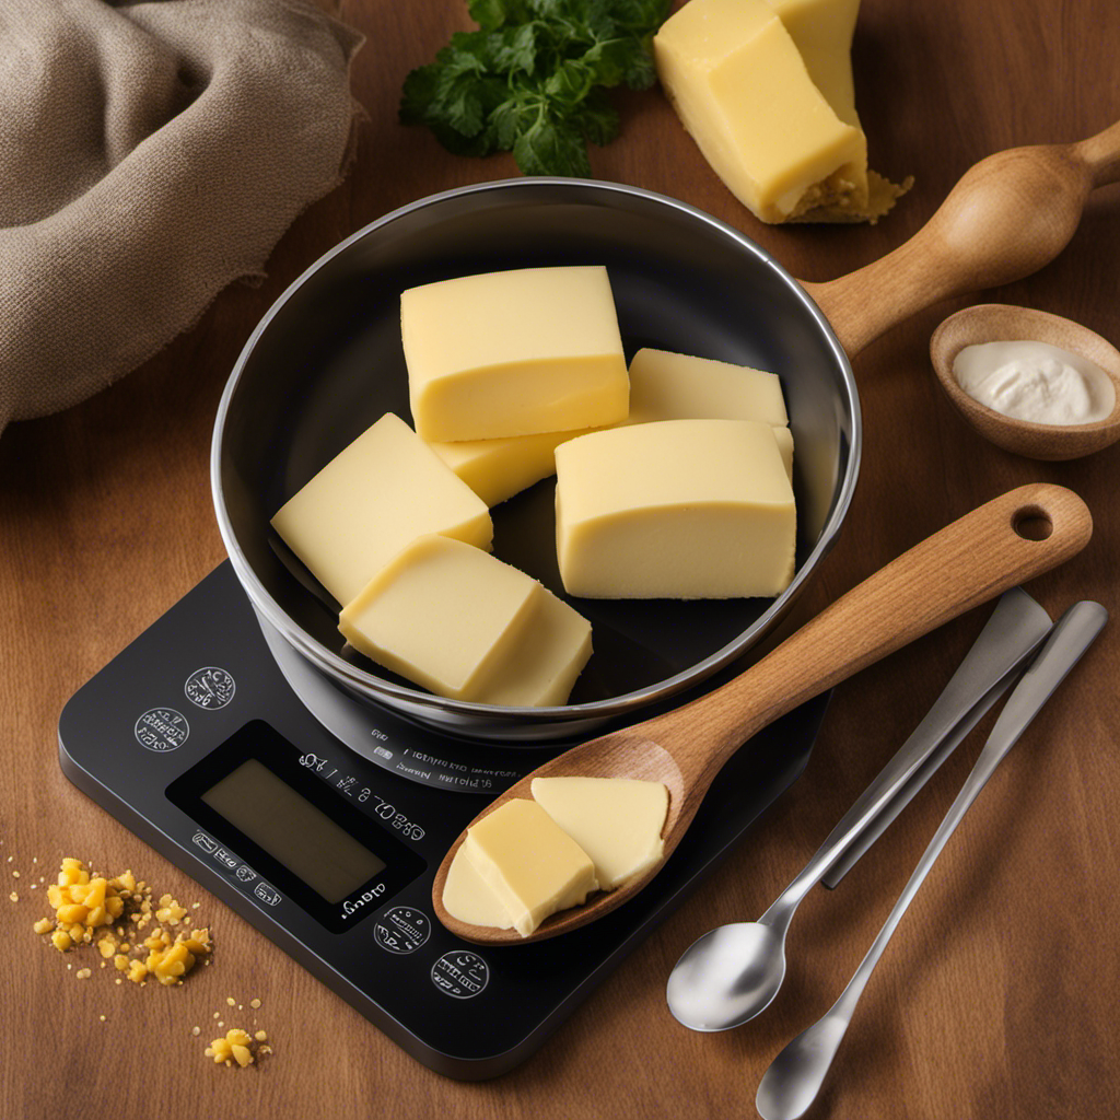
<svg viewBox="0 0 1120 1120">
<path fill-rule="evenodd" d="M 143 368 L 60 416 L 0 438 L 0 1113 L 72 1108 L 125 1117 L 581 1118 L 752 1116 L 785 1042 L 820 1016 L 861 959 L 963 781 L 973 736 L 836 893 L 810 895 L 769 1011 L 728 1034 L 680 1027 L 668 970 L 711 926 L 757 916 L 909 734 L 978 633 L 983 610 L 836 690 L 808 771 L 692 899 L 638 948 L 525 1065 L 460 1084 L 405 1056 L 365 1019 L 63 777 L 66 699 L 224 557 L 211 506 L 209 436 L 223 384 L 260 316 L 320 253 L 419 196 L 514 174 L 505 157 L 444 152 L 396 123 L 404 74 L 468 26 L 459 0 L 333 4 L 367 37 L 354 90 L 370 120 L 345 183 L 277 248 L 259 288 L 223 292 Z M 774 228 L 726 192 L 662 94 L 619 99 L 623 134 L 597 177 L 675 195 L 738 226 L 799 277 L 881 255 L 925 222 L 964 169 L 1000 148 L 1072 141 L 1120 116 L 1114 0 L 865 0 L 855 45 L 872 165 L 915 186 L 877 226 Z M 1046 199 L 1037 199 L 1039 207 Z M 1120 188 L 1096 192 L 1065 253 L 979 299 L 1072 316 L 1120 342 Z M 1120 446 L 1042 464 L 983 442 L 933 379 L 930 334 L 956 306 L 916 316 L 855 362 L 866 421 L 842 538 L 803 603 L 824 606 L 908 545 L 1020 483 L 1071 486 L 1095 534 L 1030 585 L 1060 613 L 1116 612 Z M 816 1116 L 1120 1114 L 1120 624 L 1113 623 L 1024 737 L 951 841 L 886 953 Z M 983 727 L 991 724 L 989 717 Z M 114 987 L 91 952 L 64 959 L 30 930 L 60 857 L 133 868 L 180 899 L 218 943 L 179 989 Z M 8 892 L 6 890 L 4 894 Z M 67 961 L 74 963 L 67 970 Z M 75 978 L 94 963 L 88 980 Z M 203 1057 L 233 996 L 274 1054 L 232 1072 Z M 102 1018 L 103 1017 L 103 1018 Z M 222 1018 L 227 1016 L 224 1014 Z M 190 1028 L 200 1025 L 202 1037 Z"/>
</svg>

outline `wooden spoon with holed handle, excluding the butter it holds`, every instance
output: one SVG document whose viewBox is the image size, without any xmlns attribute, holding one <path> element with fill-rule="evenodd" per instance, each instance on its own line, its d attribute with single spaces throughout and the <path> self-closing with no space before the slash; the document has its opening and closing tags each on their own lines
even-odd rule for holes
<svg viewBox="0 0 1120 1120">
<path fill-rule="evenodd" d="M 646 778 L 669 788 L 664 859 L 684 836 L 724 764 L 797 704 L 1016 584 L 1048 571 L 1089 541 L 1084 502 L 1061 486 L 1020 486 L 965 514 L 864 580 L 745 673 L 675 711 L 566 750 L 526 775 L 475 820 L 534 777 Z M 472 822 L 474 823 L 474 822 Z M 594 922 L 633 897 L 660 867 L 547 918 L 529 937 L 447 913 L 444 884 L 464 830 L 436 872 L 432 905 L 452 933 L 485 945 L 541 941 Z"/>
</svg>

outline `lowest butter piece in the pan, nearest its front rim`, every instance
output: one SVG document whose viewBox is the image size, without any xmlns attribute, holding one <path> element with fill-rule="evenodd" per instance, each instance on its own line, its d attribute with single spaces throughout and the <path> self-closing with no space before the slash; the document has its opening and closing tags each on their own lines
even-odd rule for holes
<svg viewBox="0 0 1120 1120">
<path fill-rule="evenodd" d="M 591 626 L 516 568 L 447 536 L 418 538 L 343 608 L 367 657 L 438 696 L 562 704 L 591 655 Z"/>
</svg>

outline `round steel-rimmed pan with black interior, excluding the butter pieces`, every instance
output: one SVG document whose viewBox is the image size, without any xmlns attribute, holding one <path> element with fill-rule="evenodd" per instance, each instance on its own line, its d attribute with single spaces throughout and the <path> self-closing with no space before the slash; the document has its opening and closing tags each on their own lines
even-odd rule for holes
<svg viewBox="0 0 1120 1120">
<path fill-rule="evenodd" d="M 793 429 L 799 545 L 773 600 L 590 600 L 563 596 L 553 484 L 495 507 L 494 551 L 589 618 L 595 653 L 556 708 L 431 696 L 362 659 L 337 608 L 269 519 L 386 411 L 410 419 L 400 343 L 404 288 L 542 264 L 607 267 L 627 354 L 641 346 L 777 373 Z M 780 622 L 832 547 L 861 444 L 851 367 L 832 328 L 785 270 L 741 233 L 634 187 L 512 179 L 395 211 L 348 237 L 277 300 L 245 344 L 218 408 L 214 504 L 234 570 L 265 629 L 364 703 L 467 738 L 540 745 L 632 720 L 744 659 Z"/>
</svg>

